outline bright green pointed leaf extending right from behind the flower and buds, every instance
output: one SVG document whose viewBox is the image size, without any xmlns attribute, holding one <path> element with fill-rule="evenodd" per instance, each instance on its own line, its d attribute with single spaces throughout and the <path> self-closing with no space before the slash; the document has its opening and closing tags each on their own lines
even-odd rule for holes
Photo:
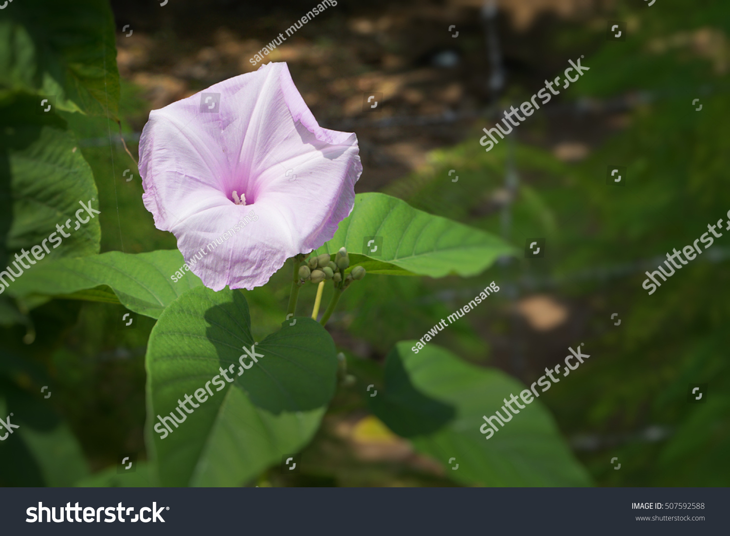
<svg viewBox="0 0 730 536">
<path fill-rule="evenodd" d="M 383 244 L 366 248 L 365 237 L 383 237 Z M 374 274 L 431 277 L 477 275 L 499 256 L 515 253 L 491 234 L 375 193 L 355 196 L 353 212 L 316 254 L 332 255 L 343 246 L 350 253 L 350 269 L 361 264 Z"/>
</svg>

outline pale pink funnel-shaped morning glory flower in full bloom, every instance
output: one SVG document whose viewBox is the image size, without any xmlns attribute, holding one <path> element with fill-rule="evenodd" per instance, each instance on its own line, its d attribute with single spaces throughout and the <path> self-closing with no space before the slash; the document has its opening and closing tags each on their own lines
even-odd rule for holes
<svg viewBox="0 0 730 536">
<path fill-rule="evenodd" d="M 264 285 L 333 237 L 362 173 L 355 134 L 323 129 L 284 63 L 150 112 L 145 207 L 215 291 Z"/>
</svg>

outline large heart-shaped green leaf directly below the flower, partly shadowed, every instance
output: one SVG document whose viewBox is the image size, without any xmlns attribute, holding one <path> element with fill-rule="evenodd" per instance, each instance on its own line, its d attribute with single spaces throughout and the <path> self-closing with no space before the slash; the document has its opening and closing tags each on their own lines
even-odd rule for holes
<svg viewBox="0 0 730 536">
<path fill-rule="evenodd" d="M 162 485 L 239 486 L 310 441 L 334 394 L 336 351 L 311 318 L 290 323 L 255 345 L 264 357 L 244 371 L 254 341 L 242 292 L 193 288 L 164 310 L 147 346 L 147 451 Z M 213 396 L 194 413 L 175 411 L 206 386 Z M 170 412 L 185 421 L 165 436 L 157 416 Z"/>
</svg>

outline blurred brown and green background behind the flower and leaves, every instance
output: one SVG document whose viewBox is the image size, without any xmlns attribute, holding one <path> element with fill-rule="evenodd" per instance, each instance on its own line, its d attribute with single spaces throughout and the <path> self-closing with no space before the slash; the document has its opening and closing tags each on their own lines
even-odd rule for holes
<svg viewBox="0 0 730 536">
<path fill-rule="evenodd" d="M 255 70 L 249 59 L 315 2 L 111 4 L 123 138 L 136 156 L 150 110 Z M 625 23 L 625 40 L 608 39 L 609 21 Z M 288 63 L 321 126 L 356 132 L 358 193 L 398 196 L 520 252 L 545 239 L 543 258 L 520 253 L 472 279 L 369 275 L 353 286 L 328 329 L 364 360 L 358 373 L 494 280 L 502 291 L 436 343 L 528 386 L 584 343 L 591 359 L 542 400 L 597 486 L 729 485 L 730 237 L 652 295 L 642 288 L 665 253 L 727 219 L 729 30 L 721 0 L 339 0 L 269 54 Z M 482 128 L 581 57 L 590 70 L 486 153 Z M 382 93 L 377 110 L 364 111 L 369 93 Z M 103 119 L 71 125 L 99 188 L 101 251 L 175 248 L 142 204 L 139 175 L 122 176 L 136 168 L 120 137 Z M 625 166 L 623 187 L 607 182 L 610 166 Z M 246 292 L 257 338 L 280 326 L 289 270 Z M 313 301 L 304 287 L 299 307 Z M 56 448 L 78 448 L 69 475 L 88 475 L 84 485 L 119 485 L 122 453 L 145 459 L 154 320 L 120 329 L 120 310 L 54 299 L 0 311 L 0 387 L 50 386 L 47 418 L 65 423 Z M 694 384 L 707 384 L 701 402 L 688 396 Z M 0 464 L 4 486 L 78 483 L 49 480 L 20 445 L 3 448 L 19 460 Z M 296 475 L 272 470 L 250 484 L 458 485 L 346 386 L 301 462 Z"/>
</svg>

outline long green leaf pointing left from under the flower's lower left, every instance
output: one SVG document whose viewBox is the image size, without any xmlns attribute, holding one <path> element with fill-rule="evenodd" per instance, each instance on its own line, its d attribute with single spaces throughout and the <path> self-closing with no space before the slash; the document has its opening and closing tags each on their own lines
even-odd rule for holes
<svg viewBox="0 0 730 536">
<path fill-rule="evenodd" d="M 46 295 L 97 302 L 114 302 L 116 296 L 128 310 L 159 318 L 177 296 L 203 284 L 193 272 L 184 272 L 177 282 L 172 280 L 184 262 L 178 250 L 136 254 L 109 251 L 80 259 L 59 259 L 29 269 L 8 291 L 14 296 Z"/>
</svg>

